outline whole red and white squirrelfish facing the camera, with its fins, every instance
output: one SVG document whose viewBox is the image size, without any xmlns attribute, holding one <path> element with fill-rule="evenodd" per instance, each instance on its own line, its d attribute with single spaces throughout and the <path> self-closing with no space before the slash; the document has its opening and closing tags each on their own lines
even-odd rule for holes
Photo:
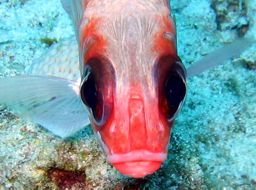
<svg viewBox="0 0 256 190">
<path fill-rule="evenodd" d="M 107 160 L 117 170 L 132 177 L 155 172 L 167 159 L 171 128 L 187 92 L 188 76 L 177 55 L 170 1 L 61 3 L 73 21 L 80 77 L 7 77 L 0 80 L 0 101 L 62 138 L 91 123 Z M 232 48 L 238 44 L 235 54 L 247 46 L 239 41 Z M 73 47 L 71 51 L 77 51 L 76 43 Z M 68 55 L 62 51 L 60 56 Z M 218 64 L 209 61 L 213 58 L 204 60 L 207 68 Z M 49 64 L 32 66 L 32 74 L 35 68 L 48 70 Z M 71 73 L 68 68 L 64 71 Z M 196 71 L 189 73 L 193 74 Z"/>
</svg>

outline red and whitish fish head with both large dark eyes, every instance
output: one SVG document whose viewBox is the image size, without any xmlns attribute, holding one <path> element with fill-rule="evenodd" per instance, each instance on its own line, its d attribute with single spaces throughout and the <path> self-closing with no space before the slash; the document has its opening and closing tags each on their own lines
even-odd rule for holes
<svg viewBox="0 0 256 190">
<path fill-rule="evenodd" d="M 80 98 L 107 160 L 144 177 L 167 159 L 187 77 L 170 15 L 147 12 L 86 20 L 80 40 Z"/>
</svg>

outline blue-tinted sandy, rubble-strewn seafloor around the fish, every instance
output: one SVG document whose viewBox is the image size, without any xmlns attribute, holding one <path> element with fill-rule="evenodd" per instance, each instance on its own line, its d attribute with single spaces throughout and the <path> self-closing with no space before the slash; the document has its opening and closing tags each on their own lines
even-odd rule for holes
<svg viewBox="0 0 256 190">
<path fill-rule="evenodd" d="M 185 66 L 237 38 L 247 26 L 256 33 L 256 0 L 173 0 L 171 6 Z M 24 74 L 49 48 L 40 38 L 73 34 L 59 0 L 0 0 L 0 77 Z M 168 160 L 142 179 L 124 176 L 108 164 L 90 127 L 62 140 L 1 104 L 0 189 L 58 189 L 47 175 L 56 167 L 85 170 L 83 189 L 253 190 L 255 69 L 253 45 L 235 60 L 191 77 Z"/>
</svg>

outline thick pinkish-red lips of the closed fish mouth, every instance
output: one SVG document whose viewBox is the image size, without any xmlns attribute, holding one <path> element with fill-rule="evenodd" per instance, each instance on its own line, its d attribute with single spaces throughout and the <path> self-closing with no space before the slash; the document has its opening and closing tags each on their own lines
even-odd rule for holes
<svg viewBox="0 0 256 190">
<path fill-rule="evenodd" d="M 122 174 L 134 178 L 152 174 L 167 159 L 167 153 L 154 153 L 147 150 L 133 150 L 124 154 L 107 155 L 107 160 Z"/>
</svg>

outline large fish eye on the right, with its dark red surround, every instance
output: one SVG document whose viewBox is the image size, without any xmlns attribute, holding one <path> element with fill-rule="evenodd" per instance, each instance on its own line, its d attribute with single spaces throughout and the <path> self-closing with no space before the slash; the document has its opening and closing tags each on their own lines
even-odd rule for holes
<svg viewBox="0 0 256 190">
<path fill-rule="evenodd" d="M 158 90 L 159 110 L 168 121 L 180 113 L 187 93 L 187 74 L 178 56 L 160 57 L 153 69 L 155 89 Z"/>
</svg>

